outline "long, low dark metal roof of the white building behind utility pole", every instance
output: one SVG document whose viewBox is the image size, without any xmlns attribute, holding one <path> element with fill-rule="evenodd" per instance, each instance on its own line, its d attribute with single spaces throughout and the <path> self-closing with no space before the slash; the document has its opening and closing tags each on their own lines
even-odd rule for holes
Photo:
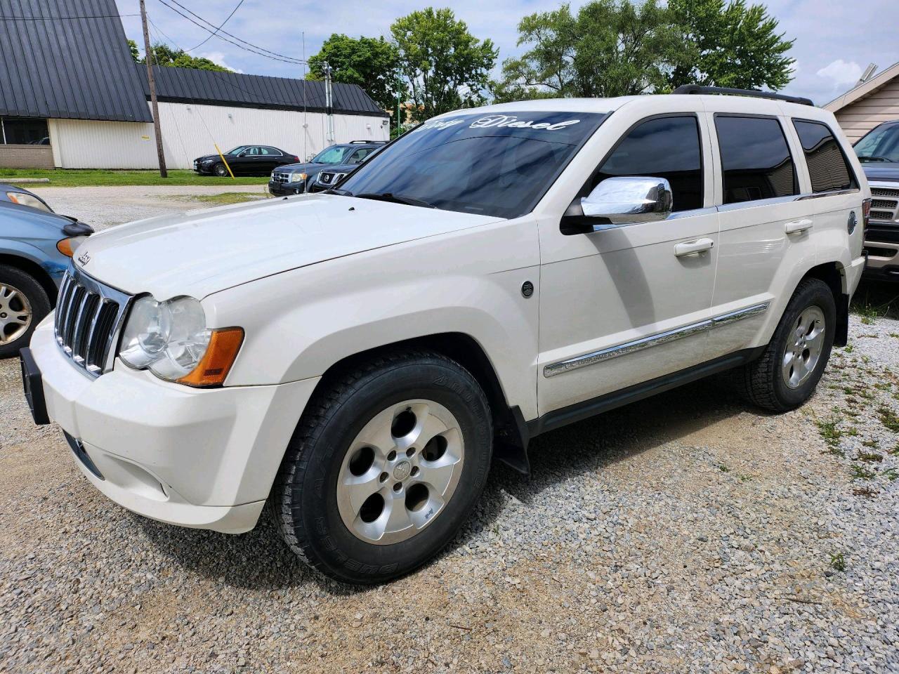
<svg viewBox="0 0 899 674">
<path fill-rule="evenodd" d="M 154 67 L 156 97 L 160 101 L 235 105 L 272 110 L 325 111 L 325 83 L 288 77 L 222 73 L 193 68 Z M 146 67 L 138 66 L 138 77 L 150 95 Z M 334 112 L 388 117 L 358 84 L 332 84 Z"/>
</svg>

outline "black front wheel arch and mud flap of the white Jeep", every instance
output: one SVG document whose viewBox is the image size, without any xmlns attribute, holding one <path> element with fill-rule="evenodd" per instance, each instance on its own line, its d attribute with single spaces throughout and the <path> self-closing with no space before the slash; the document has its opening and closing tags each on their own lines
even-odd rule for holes
<svg viewBox="0 0 899 674">
<path fill-rule="evenodd" d="M 396 350 L 429 350 L 455 360 L 475 377 L 484 389 L 494 422 L 494 457 L 527 474 L 530 464 L 527 457 L 528 431 L 521 409 L 510 406 L 503 385 L 496 374 L 493 362 L 476 339 L 466 333 L 436 333 L 394 341 L 362 350 L 336 361 L 325 370 L 313 395 L 331 385 L 336 377 L 352 370 L 360 362 Z"/>
</svg>

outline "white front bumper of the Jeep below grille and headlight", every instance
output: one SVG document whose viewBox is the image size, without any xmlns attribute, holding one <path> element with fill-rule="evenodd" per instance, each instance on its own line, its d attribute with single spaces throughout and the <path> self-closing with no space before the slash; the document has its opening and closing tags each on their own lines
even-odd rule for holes
<svg viewBox="0 0 899 674">
<path fill-rule="evenodd" d="M 49 419 L 94 487 L 148 518 L 232 534 L 254 528 L 318 381 L 191 389 L 118 361 L 92 379 L 59 350 L 50 318 L 31 356 Z"/>
</svg>

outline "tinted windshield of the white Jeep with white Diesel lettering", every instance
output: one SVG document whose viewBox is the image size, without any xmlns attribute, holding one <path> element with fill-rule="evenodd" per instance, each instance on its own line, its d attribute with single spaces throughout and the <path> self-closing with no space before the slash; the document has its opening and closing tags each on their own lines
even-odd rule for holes
<svg viewBox="0 0 899 674">
<path fill-rule="evenodd" d="M 336 192 L 518 217 L 534 208 L 605 118 L 530 111 L 430 120 L 361 164 Z"/>
</svg>

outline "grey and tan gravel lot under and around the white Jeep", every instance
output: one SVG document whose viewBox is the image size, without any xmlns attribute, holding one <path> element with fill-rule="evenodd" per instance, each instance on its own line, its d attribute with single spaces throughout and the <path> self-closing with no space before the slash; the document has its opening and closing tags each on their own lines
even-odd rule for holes
<svg viewBox="0 0 899 674">
<path fill-rule="evenodd" d="M 101 189 L 46 192 L 123 219 Z M 267 519 L 105 500 L 0 361 L 0 672 L 899 671 L 897 375 L 899 322 L 853 317 L 797 412 L 700 382 L 547 434 L 439 559 L 356 590 Z"/>
</svg>

